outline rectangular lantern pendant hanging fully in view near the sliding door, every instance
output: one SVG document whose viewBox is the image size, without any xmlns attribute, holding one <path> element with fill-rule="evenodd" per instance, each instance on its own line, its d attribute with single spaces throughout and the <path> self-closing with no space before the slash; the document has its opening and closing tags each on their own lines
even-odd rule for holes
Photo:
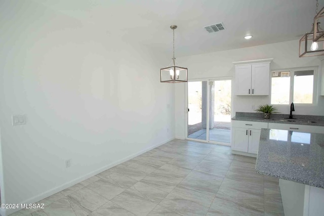
<svg viewBox="0 0 324 216">
<path fill-rule="evenodd" d="M 173 66 L 160 69 L 160 82 L 187 82 L 188 81 L 188 68 L 176 66 L 176 58 L 174 57 L 174 30 L 176 25 L 170 26 L 173 30 Z"/>
</svg>

